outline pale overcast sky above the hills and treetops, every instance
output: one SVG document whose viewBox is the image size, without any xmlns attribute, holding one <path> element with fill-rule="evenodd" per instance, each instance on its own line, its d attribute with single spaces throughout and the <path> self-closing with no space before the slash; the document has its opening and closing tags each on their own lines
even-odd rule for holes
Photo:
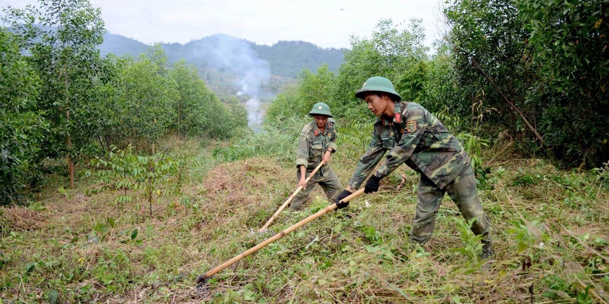
<svg viewBox="0 0 609 304">
<path fill-rule="evenodd" d="M 225 33 L 258 44 L 303 40 L 322 47 L 349 47 L 349 37 L 370 36 L 381 18 L 407 24 L 423 19 L 425 44 L 440 38 L 438 0 L 91 0 L 106 29 L 143 43 L 186 43 Z M 24 7 L 35 0 L 0 0 Z"/>
</svg>

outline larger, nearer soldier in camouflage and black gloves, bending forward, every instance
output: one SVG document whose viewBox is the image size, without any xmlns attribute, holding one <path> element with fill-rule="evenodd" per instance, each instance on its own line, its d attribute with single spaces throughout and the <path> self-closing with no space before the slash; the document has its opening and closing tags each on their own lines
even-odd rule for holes
<svg viewBox="0 0 609 304">
<path fill-rule="evenodd" d="M 487 215 L 480 204 L 470 157 L 459 140 L 423 106 L 401 101 L 387 78 L 369 78 L 356 97 L 368 103 L 377 119 L 368 151 L 357 163 L 348 187 L 336 198 L 338 207 L 348 206 L 348 202 L 340 204 L 340 199 L 357 190 L 389 151 L 364 192 L 378 191 L 379 181 L 404 163 L 421 174 L 410 241 L 421 245 L 429 241 L 440 202 L 448 192 L 467 221 L 476 219 L 471 230 L 482 235 L 482 258 L 493 258 Z"/>
</svg>

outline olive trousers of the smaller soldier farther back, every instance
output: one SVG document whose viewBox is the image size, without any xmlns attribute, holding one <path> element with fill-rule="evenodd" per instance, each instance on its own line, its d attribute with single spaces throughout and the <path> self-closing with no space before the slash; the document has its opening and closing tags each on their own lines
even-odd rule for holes
<svg viewBox="0 0 609 304">
<path fill-rule="evenodd" d="M 307 178 L 312 171 L 313 169 L 307 169 L 305 178 Z M 296 180 L 300 181 L 300 170 L 296 173 Z M 292 204 L 290 204 L 290 211 L 303 210 L 302 204 L 305 202 L 307 196 L 309 196 L 309 193 L 313 191 L 315 184 L 322 186 L 323 192 L 326 193 L 326 198 L 329 200 L 332 200 L 337 193 L 340 193 L 343 190 L 342 184 L 340 184 L 339 178 L 336 176 L 336 173 L 334 173 L 334 170 L 332 170 L 329 165 L 323 165 L 322 168 L 309 179 L 309 182 L 306 183 L 306 189 L 298 192 L 292 201 Z"/>
</svg>

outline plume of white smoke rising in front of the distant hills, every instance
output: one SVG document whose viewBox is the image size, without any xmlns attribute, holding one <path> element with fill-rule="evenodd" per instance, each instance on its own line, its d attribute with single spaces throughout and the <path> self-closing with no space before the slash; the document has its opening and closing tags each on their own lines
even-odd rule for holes
<svg viewBox="0 0 609 304">
<path fill-rule="evenodd" d="M 270 67 L 266 60 L 258 57 L 252 46 L 238 38 L 227 35 L 214 35 L 211 37 L 211 45 L 201 46 L 196 55 L 209 63 L 209 66 L 216 69 L 227 69 L 233 72 L 238 78 L 238 85 L 241 91 L 238 96 L 248 97 L 247 124 L 254 131 L 258 131 L 264 112 L 260 108 L 260 95 L 262 86 L 269 83 Z"/>
</svg>

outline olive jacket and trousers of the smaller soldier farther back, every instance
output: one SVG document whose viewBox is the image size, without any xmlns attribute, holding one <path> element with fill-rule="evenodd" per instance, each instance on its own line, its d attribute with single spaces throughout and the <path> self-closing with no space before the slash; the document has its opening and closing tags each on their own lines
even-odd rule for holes
<svg viewBox="0 0 609 304">
<path fill-rule="evenodd" d="M 325 133 L 322 133 L 322 131 L 317 128 L 315 121 L 305 125 L 305 128 L 303 128 L 303 131 L 300 133 L 300 140 L 298 142 L 296 158 L 296 176 L 298 181 L 300 181 L 301 178 L 301 165 L 306 167 L 305 178 L 307 178 L 317 165 L 322 162 L 322 157 L 326 150 L 332 148 L 332 153 L 336 152 L 336 138 L 335 122 L 331 118 L 328 118 Z M 328 164 L 325 164 L 315 173 L 309 182 L 307 182 L 306 188 L 298 192 L 294 201 L 290 204 L 290 210 L 300 211 L 303 209 L 302 204 L 313 190 L 315 184 L 322 186 L 328 199 L 332 199 L 336 193 L 341 192 L 343 189 L 334 170 L 332 170 Z"/>
</svg>

